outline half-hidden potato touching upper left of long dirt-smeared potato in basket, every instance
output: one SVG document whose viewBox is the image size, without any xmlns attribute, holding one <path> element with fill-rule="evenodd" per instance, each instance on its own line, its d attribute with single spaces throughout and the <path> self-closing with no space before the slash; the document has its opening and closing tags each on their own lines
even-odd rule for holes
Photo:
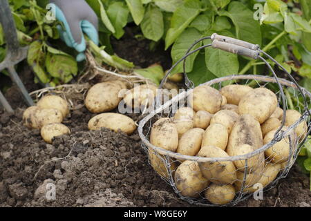
<svg viewBox="0 0 311 221">
<path fill-rule="evenodd" d="M 214 114 L 213 117 L 211 117 L 210 124 L 223 124 L 223 126 L 227 128 L 228 134 L 230 134 L 237 120 L 237 113 L 235 113 L 234 111 L 223 110 L 218 111 L 216 114 Z"/>
</svg>

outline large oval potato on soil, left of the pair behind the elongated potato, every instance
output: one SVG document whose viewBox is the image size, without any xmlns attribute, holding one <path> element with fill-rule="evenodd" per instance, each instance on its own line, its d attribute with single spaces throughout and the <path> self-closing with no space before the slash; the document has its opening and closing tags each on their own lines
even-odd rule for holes
<svg viewBox="0 0 311 221">
<path fill-rule="evenodd" d="M 106 81 L 95 84 L 88 90 L 85 105 L 92 113 L 112 111 L 122 100 L 120 90 L 125 89 L 122 81 Z"/>
</svg>

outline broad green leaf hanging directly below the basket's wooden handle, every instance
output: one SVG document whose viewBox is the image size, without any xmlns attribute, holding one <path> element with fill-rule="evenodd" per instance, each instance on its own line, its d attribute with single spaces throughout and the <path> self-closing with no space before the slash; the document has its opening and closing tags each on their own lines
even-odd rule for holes
<svg viewBox="0 0 311 221">
<path fill-rule="evenodd" d="M 214 30 L 210 31 L 210 34 Z M 226 30 L 219 32 L 220 35 L 233 37 L 232 33 Z M 206 39 L 204 44 L 211 44 L 210 39 Z M 205 48 L 205 63 L 207 68 L 217 77 L 238 74 L 238 56 L 224 50 L 215 48 Z"/>
</svg>

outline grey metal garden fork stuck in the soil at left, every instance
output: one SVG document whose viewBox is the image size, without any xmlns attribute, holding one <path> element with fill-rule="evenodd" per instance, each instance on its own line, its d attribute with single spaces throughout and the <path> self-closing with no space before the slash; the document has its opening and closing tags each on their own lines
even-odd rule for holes
<svg viewBox="0 0 311 221">
<path fill-rule="evenodd" d="M 15 70 L 15 65 L 27 57 L 28 47 L 21 48 L 19 46 L 19 41 L 17 39 L 17 31 L 15 26 L 15 21 L 13 20 L 10 6 L 7 0 L 0 0 L 0 22 L 2 24 L 2 29 L 4 32 L 4 37 L 6 39 L 6 58 L 3 62 L 0 63 L 0 72 L 1 70 L 7 69 L 10 73 L 10 77 L 15 84 L 21 90 L 23 98 L 26 100 L 26 103 L 29 106 L 33 106 L 34 102 L 32 101 L 30 95 L 28 94 L 23 82 L 17 75 Z M 6 109 L 9 113 L 14 113 L 12 107 L 3 96 L 0 91 L 0 103 L 3 108 Z"/>
</svg>

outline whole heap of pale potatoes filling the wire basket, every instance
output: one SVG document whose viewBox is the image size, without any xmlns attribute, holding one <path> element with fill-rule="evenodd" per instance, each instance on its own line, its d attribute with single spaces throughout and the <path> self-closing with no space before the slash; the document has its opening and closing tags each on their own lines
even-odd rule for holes
<svg viewBox="0 0 311 221">
<path fill-rule="evenodd" d="M 252 153 L 272 141 L 281 126 L 283 110 L 276 95 L 267 88 L 228 85 L 220 90 L 198 86 L 191 92 L 190 105 L 179 108 L 173 117 L 160 118 L 151 128 L 150 142 L 182 155 L 230 157 Z M 296 122 L 301 114 L 286 111 L 285 126 Z M 285 130 L 287 127 L 283 128 Z M 236 193 L 254 193 L 254 184 L 270 184 L 288 164 L 290 141 L 293 148 L 302 140 L 307 124 L 266 151 L 245 160 L 194 162 L 169 158 L 170 162 L 149 149 L 153 169 L 164 178 L 175 180 L 180 194 L 189 198 L 204 195 L 213 204 L 227 204 Z M 295 151 L 295 150 L 292 150 Z M 164 162 L 169 163 L 168 169 Z M 169 173 L 172 172 L 172 173 Z"/>
</svg>

